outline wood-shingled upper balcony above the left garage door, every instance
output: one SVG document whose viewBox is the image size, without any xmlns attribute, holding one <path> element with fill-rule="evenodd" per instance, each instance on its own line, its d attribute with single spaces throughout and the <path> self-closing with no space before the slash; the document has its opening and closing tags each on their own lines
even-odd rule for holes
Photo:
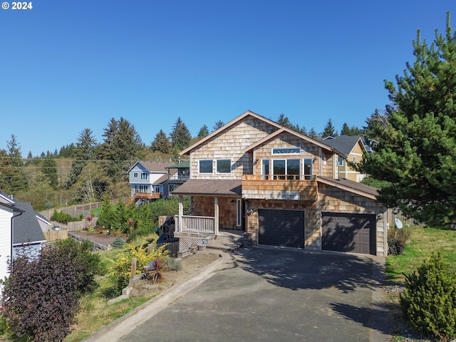
<svg viewBox="0 0 456 342">
<path fill-rule="evenodd" d="M 316 202 L 316 180 L 304 180 L 299 175 L 243 175 L 242 197 L 247 199 L 290 199 Z"/>
</svg>

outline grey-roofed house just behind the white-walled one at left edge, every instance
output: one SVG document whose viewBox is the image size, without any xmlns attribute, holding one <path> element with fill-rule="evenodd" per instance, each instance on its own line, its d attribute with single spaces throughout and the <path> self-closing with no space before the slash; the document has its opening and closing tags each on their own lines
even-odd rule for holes
<svg viewBox="0 0 456 342">
<path fill-rule="evenodd" d="M 51 229 L 51 222 L 35 212 L 30 202 L 19 202 L 0 192 L 0 203 L 12 205 L 22 212 L 15 217 L 13 222 L 13 258 L 17 257 L 20 249 L 24 246 L 27 246 L 26 252 L 30 256 L 38 254 L 42 245 L 46 242 L 43 232 Z"/>
</svg>

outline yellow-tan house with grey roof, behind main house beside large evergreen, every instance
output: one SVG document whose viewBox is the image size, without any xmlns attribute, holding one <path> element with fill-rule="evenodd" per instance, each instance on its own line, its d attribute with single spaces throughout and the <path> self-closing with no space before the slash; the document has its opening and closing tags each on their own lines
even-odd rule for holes
<svg viewBox="0 0 456 342">
<path fill-rule="evenodd" d="M 361 162 L 363 155 L 368 152 L 361 135 L 328 137 L 324 138 L 322 142 L 341 152 L 341 155 L 338 156 L 339 177 L 355 182 L 361 182 L 361 180 L 366 178 L 366 174 L 353 170 L 353 167 L 350 167 L 347 163 L 347 161 Z"/>
</svg>

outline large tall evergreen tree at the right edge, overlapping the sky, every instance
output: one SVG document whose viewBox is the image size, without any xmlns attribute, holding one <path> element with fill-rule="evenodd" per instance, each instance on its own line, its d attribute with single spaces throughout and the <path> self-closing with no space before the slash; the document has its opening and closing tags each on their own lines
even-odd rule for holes
<svg viewBox="0 0 456 342">
<path fill-rule="evenodd" d="M 361 170 L 390 185 L 378 197 L 388 207 L 432 226 L 456 222 L 456 33 L 447 14 L 446 34 L 430 46 L 413 41 L 415 62 L 396 85 L 385 81 L 393 103 L 388 126 Z"/>
</svg>

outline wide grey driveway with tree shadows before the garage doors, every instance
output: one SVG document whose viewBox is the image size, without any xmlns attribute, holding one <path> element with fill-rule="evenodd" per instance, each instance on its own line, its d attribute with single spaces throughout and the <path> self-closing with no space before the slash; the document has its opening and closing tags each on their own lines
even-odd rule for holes
<svg viewBox="0 0 456 342">
<path fill-rule="evenodd" d="M 142 312 L 116 339 L 390 341 L 388 307 L 376 299 L 381 259 L 264 248 L 233 255 L 187 294 Z M 113 341 L 104 336 L 89 341 Z"/>
</svg>

